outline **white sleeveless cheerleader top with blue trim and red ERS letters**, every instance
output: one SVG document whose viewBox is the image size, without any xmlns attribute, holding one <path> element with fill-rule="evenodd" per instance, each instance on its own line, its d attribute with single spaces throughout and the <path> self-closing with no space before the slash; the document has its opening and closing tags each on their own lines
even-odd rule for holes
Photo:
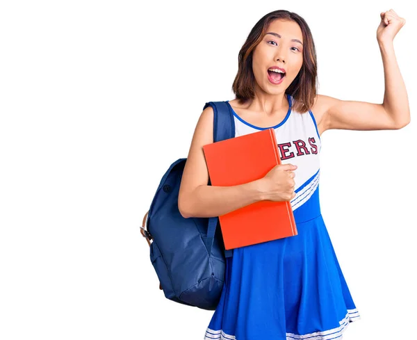
<svg viewBox="0 0 417 340">
<path fill-rule="evenodd" d="M 291 206 L 295 210 L 308 202 L 309 197 L 318 187 L 321 143 L 313 113 L 294 111 L 293 96 L 287 95 L 287 98 L 290 105 L 286 117 L 274 127 L 256 127 L 240 118 L 229 102 L 226 103 L 234 114 L 235 137 L 265 129 L 275 129 L 281 163 L 297 165 L 294 178 L 297 195 L 291 201 Z"/>
</svg>

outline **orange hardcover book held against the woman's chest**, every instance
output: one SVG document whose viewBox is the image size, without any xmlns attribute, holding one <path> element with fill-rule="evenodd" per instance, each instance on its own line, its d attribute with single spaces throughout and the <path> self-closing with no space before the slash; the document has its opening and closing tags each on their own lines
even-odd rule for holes
<svg viewBox="0 0 417 340">
<path fill-rule="evenodd" d="M 281 164 L 274 129 L 203 146 L 213 186 L 236 186 L 264 177 Z M 226 250 L 297 235 L 291 202 L 262 200 L 219 216 Z"/>
</svg>

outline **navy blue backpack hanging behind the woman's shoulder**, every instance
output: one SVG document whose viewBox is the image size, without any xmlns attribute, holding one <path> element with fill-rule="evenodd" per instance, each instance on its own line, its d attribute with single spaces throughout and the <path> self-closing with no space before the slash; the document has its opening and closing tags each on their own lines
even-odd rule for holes
<svg viewBox="0 0 417 340">
<path fill-rule="evenodd" d="M 229 106 L 208 102 L 204 108 L 209 105 L 214 111 L 213 141 L 234 138 L 234 115 Z M 150 259 L 165 298 L 215 310 L 224 284 L 226 257 L 233 251 L 224 249 L 218 217 L 181 216 L 178 193 L 185 164 L 186 159 L 178 159 L 163 175 L 140 232 L 149 244 Z"/>
</svg>

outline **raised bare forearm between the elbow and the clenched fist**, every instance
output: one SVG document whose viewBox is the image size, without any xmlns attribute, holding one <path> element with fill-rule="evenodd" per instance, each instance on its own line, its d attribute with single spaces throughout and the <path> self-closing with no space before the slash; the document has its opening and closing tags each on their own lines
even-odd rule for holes
<svg viewBox="0 0 417 340">
<path fill-rule="evenodd" d="M 385 111 L 391 115 L 395 125 L 402 127 L 410 121 L 407 89 L 395 57 L 393 43 L 379 42 L 379 49 L 382 54 L 385 81 L 384 102 L 382 105 Z"/>
</svg>

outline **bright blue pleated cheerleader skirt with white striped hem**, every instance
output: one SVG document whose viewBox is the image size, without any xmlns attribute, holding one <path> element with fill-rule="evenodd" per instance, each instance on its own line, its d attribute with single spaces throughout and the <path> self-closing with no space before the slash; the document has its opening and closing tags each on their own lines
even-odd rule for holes
<svg viewBox="0 0 417 340">
<path fill-rule="evenodd" d="M 302 207 L 294 216 L 296 236 L 236 248 L 227 258 L 205 340 L 340 340 L 360 318 L 321 213 Z"/>
</svg>

